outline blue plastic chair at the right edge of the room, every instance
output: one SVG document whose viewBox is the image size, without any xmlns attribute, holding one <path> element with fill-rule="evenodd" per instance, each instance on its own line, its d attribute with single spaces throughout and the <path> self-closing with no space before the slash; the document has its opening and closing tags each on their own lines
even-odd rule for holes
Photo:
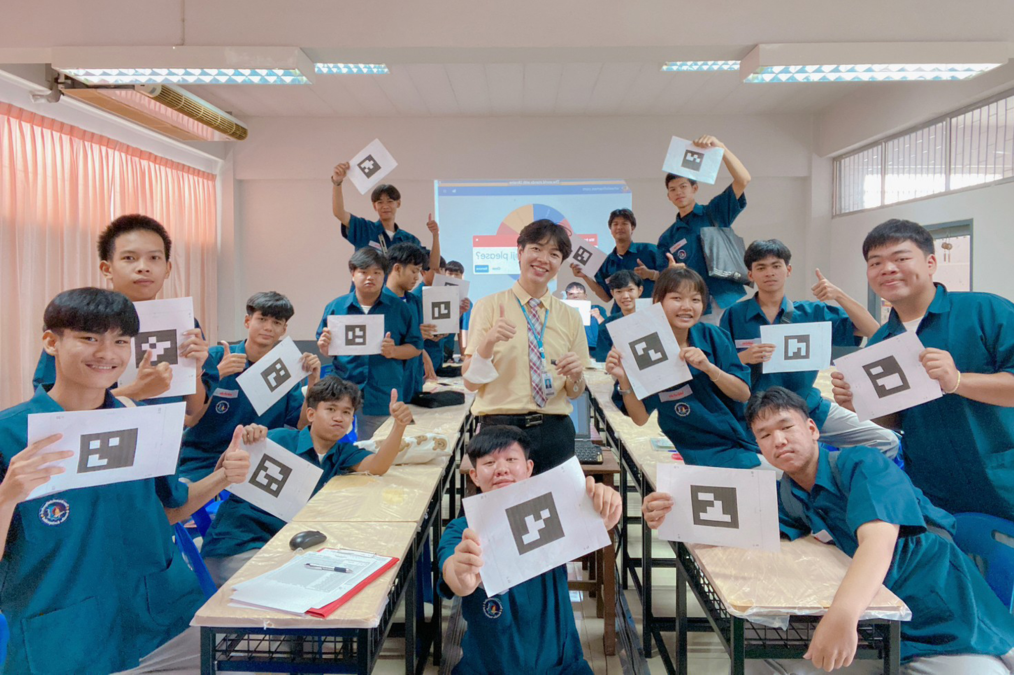
<svg viewBox="0 0 1014 675">
<path fill-rule="evenodd" d="M 1014 612 L 1014 522 L 986 513 L 956 513 L 954 543 L 979 567 L 990 588 Z"/>
</svg>

